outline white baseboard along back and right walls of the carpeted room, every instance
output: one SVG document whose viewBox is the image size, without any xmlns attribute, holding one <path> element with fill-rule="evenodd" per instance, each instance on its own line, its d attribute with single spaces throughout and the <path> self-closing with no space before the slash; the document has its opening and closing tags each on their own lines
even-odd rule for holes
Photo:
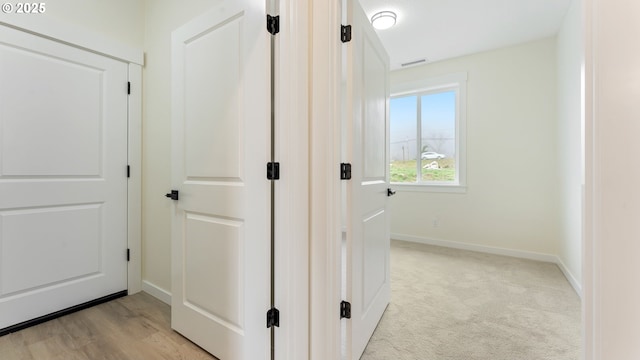
<svg viewBox="0 0 640 360">
<path fill-rule="evenodd" d="M 429 238 L 423 238 L 423 237 L 405 235 L 405 234 L 391 234 L 391 238 L 394 240 L 409 241 L 409 242 L 415 242 L 420 244 L 435 245 L 435 246 L 442 246 L 442 247 L 448 247 L 448 248 L 454 248 L 454 249 L 460 249 L 460 250 L 477 251 L 477 252 L 482 252 L 487 254 L 504 255 L 504 256 L 511 256 L 511 257 L 516 257 L 521 259 L 554 263 L 560 268 L 560 271 L 562 271 L 564 276 L 567 278 L 567 281 L 569 281 L 569 284 L 571 284 L 571 287 L 573 287 L 573 289 L 576 291 L 578 296 L 582 298 L 582 287 L 580 286 L 580 282 L 576 280 L 575 276 L 573 276 L 571 271 L 569 271 L 569 268 L 567 268 L 567 266 L 562 262 L 562 260 L 560 260 L 560 258 L 556 255 L 522 251 L 522 250 L 505 249 L 505 248 L 492 247 L 492 246 L 486 246 L 486 245 L 469 244 L 469 243 L 462 243 L 457 241 L 429 239 Z"/>
</svg>

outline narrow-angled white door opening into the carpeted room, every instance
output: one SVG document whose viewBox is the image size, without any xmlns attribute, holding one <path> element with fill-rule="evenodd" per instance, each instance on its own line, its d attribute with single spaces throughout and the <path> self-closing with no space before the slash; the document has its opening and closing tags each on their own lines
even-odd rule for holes
<svg viewBox="0 0 640 360">
<path fill-rule="evenodd" d="M 347 359 L 359 359 L 391 296 L 389 278 L 389 58 L 357 0 L 347 49 Z"/>
</svg>

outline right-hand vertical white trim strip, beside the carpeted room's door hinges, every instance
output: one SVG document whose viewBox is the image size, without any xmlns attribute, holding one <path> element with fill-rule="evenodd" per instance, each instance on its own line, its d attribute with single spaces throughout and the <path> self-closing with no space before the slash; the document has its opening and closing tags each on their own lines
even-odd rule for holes
<svg viewBox="0 0 640 360">
<path fill-rule="evenodd" d="M 340 359 L 342 1 L 313 1 L 310 10 L 309 358 Z"/>
</svg>

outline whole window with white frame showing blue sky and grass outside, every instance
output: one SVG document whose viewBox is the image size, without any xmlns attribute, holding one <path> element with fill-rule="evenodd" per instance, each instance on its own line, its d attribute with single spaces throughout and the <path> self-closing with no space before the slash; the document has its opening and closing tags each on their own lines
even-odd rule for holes
<svg viewBox="0 0 640 360">
<path fill-rule="evenodd" d="M 463 188 L 466 74 L 398 88 L 390 101 L 391 182 Z"/>
</svg>

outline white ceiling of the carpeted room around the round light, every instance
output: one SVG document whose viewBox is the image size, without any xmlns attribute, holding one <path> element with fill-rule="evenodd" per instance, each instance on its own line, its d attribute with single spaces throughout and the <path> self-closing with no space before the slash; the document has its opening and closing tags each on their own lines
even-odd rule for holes
<svg viewBox="0 0 640 360">
<path fill-rule="evenodd" d="M 376 30 L 391 68 L 420 59 L 435 62 L 555 35 L 571 0 L 360 0 L 370 19 L 397 14 Z"/>
</svg>

